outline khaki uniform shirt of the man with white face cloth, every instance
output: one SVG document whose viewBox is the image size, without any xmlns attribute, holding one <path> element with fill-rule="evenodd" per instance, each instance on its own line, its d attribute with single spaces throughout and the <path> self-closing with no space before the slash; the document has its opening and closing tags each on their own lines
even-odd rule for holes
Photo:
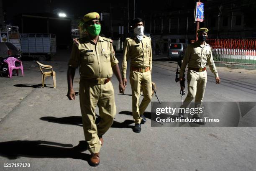
<svg viewBox="0 0 256 171">
<path fill-rule="evenodd" d="M 142 41 L 137 37 L 126 38 L 123 48 L 122 78 L 126 78 L 127 60 L 131 59 L 131 66 L 137 68 L 150 67 L 152 71 L 151 38 L 143 36 Z"/>
</svg>

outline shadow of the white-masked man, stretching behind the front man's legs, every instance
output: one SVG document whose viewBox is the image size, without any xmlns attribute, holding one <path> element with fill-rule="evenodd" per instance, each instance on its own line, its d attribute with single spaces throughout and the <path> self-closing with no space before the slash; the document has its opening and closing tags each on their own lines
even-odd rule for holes
<svg viewBox="0 0 256 171">
<path fill-rule="evenodd" d="M 95 123 L 100 123 L 100 116 L 96 115 L 97 118 L 95 120 Z M 83 126 L 82 124 L 82 116 L 69 116 L 69 117 L 41 117 L 41 120 L 45 120 L 51 123 L 60 123 L 60 124 L 67 124 L 67 125 L 76 125 L 76 126 Z M 114 120 L 113 124 L 111 125 L 111 128 L 133 128 L 130 124 L 133 123 L 133 120 L 125 120 L 122 123 L 117 122 Z"/>
</svg>

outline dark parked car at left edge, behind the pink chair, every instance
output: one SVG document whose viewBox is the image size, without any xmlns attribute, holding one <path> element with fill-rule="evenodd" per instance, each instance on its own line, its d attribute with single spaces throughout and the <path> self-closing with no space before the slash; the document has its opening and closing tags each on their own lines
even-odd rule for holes
<svg viewBox="0 0 256 171">
<path fill-rule="evenodd" d="M 20 59 L 22 54 L 20 51 L 10 42 L 0 42 L 0 57 L 7 58 L 13 56 L 17 59 Z"/>
</svg>

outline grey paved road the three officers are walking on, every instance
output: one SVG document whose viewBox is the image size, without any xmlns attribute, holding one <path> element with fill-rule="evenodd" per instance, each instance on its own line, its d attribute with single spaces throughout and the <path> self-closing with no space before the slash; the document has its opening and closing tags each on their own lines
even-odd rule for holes
<svg viewBox="0 0 256 171">
<path fill-rule="evenodd" d="M 118 94 L 113 77 L 118 114 L 104 135 L 101 163 L 88 165 L 84 151 L 79 100 L 67 100 L 67 59 L 61 51 L 51 64 L 57 88 L 41 88 L 34 61 L 24 62 L 25 77 L 0 78 L 0 170 L 2 171 L 253 171 L 256 167 L 255 127 L 151 127 L 133 133 L 131 87 Z M 161 101 L 180 101 L 174 82 L 177 64 L 154 57 L 153 80 Z M 120 56 L 118 59 L 121 61 Z M 121 62 L 120 62 L 121 63 Z M 256 101 L 256 71 L 219 68 L 221 84 L 208 71 L 205 101 Z M 79 75 L 74 79 L 78 91 Z M 38 85 L 39 84 L 39 85 Z M 156 101 L 156 98 L 153 98 Z M 84 151 L 84 152 L 79 152 Z M 30 163 L 30 167 L 4 167 L 4 163 Z"/>
</svg>

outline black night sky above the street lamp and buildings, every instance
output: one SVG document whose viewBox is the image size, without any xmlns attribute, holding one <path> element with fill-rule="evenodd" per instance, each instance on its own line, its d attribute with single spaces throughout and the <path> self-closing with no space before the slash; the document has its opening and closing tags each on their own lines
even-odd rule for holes
<svg viewBox="0 0 256 171">
<path fill-rule="evenodd" d="M 205 0 L 206 1 L 206 0 Z M 51 2 L 51 3 L 49 3 Z M 6 19 L 11 20 L 14 15 L 20 13 L 43 13 L 59 8 L 68 16 L 82 16 L 86 13 L 96 11 L 110 12 L 110 2 L 115 13 L 124 13 L 127 8 L 127 0 L 4 0 Z M 171 11 L 192 9 L 196 0 L 135 0 L 136 16 L 141 13 L 150 13 L 151 10 Z M 130 13 L 133 14 L 133 0 L 129 0 Z"/>
</svg>

